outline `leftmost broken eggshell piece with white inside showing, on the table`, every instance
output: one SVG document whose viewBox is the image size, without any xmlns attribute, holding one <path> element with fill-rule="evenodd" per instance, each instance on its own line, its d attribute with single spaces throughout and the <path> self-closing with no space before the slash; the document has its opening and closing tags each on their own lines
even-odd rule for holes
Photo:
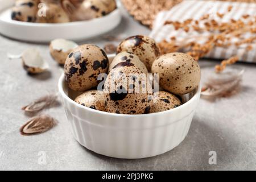
<svg viewBox="0 0 256 182">
<path fill-rule="evenodd" d="M 24 51 L 21 59 L 23 68 L 26 69 L 28 73 L 42 73 L 49 69 L 49 65 L 36 48 L 29 48 Z"/>
</svg>

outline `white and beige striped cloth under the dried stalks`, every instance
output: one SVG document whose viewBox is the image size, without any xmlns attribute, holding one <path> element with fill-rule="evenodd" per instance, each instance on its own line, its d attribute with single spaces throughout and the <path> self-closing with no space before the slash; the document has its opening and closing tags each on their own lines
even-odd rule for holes
<svg viewBox="0 0 256 182">
<path fill-rule="evenodd" d="M 233 9 L 227 13 L 228 7 L 233 6 Z M 220 19 L 216 13 L 225 13 L 225 16 Z M 179 5 L 172 7 L 169 11 L 160 12 L 155 19 L 154 27 L 150 34 L 151 38 L 154 38 L 156 42 L 166 39 L 170 41 L 172 36 L 175 36 L 177 40 L 184 41 L 194 35 L 209 35 L 205 32 L 199 34 L 196 31 L 185 32 L 184 30 L 175 30 L 172 25 L 164 25 L 166 20 L 180 21 L 186 19 L 200 19 L 201 16 L 209 14 L 210 17 L 221 22 L 227 22 L 230 19 L 241 19 L 242 15 L 249 14 L 256 16 L 256 3 L 242 3 L 242 2 L 223 2 L 223 1 L 183 1 Z M 249 37 L 251 34 L 246 34 L 245 37 Z M 254 34 L 254 36 L 256 36 Z M 234 39 L 235 40 L 235 39 Z M 233 41 L 234 41 L 233 40 Z M 203 41 L 203 40 L 202 40 Z M 197 42 L 200 42 L 197 40 Z M 256 63 L 256 44 L 251 44 L 253 49 L 246 50 L 248 45 L 242 44 L 240 47 L 230 46 L 228 48 L 216 47 L 205 57 L 214 59 L 228 59 L 231 56 L 238 55 L 241 61 L 250 63 Z"/>
</svg>

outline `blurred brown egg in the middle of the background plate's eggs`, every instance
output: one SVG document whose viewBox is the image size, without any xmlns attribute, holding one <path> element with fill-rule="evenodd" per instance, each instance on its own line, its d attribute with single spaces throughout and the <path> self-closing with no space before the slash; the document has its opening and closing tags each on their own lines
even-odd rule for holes
<svg viewBox="0 0 256 182">
<path fill-rule="evenodd" d="M 65 13 L 59 3 L 45 3 L 36 14 L 38 23 L 66 23 L 69 22 L 68 14 Z"/>
</svg>

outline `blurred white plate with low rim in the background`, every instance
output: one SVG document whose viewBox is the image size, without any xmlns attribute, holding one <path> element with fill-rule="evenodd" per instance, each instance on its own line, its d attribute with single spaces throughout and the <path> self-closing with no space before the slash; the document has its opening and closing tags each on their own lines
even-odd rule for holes
<svg viewBox="0 0 256 182">
<path fill-rule="evenodd" d="M 0 13 L 0 34 L 28 42 L 46 43 L 57 38 L 69 40 L 92 38 L 118 26 L 122 18 L 120 10 L 116 9 L 102 18 L 80 22 L 55 24 L 19 22 L 11 19 L 10 6 L 13 3 L 2 3 L 2 1 L 0 3 L 3 10 Z"/>
</svg>

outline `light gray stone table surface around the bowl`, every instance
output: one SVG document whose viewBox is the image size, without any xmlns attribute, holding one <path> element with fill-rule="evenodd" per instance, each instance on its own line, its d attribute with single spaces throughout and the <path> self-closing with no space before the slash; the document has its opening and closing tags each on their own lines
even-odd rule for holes
<svg viewBox="0 0 256 182">
<path fill-rule="evenodd" d="M 149 34 L 122 9 L 118 28 L 108 34 L 126 36 Z M 103 46 L 102 38 L 86 40 Z M 81 44 L 80 43 L 80 44 Z M 29 76 L 20 60 L 7 59 L 7 52 L 20 53 L 39 48 L 51 72 Z M 0 170 L 221 170 L 256 169 L 256 65 L 245 68 L 240 94 L 210 102 L 200 100 L 191 129 L 184 141 L 166 154 L 147 159 L 114 159 L 95 154 L 72 137 L 71 126 L 62 106 L 44 113 L 59 124 L 40 135 L 24 137 L 19 127 L 30 116 L 20 109 L 35 98 L 57 92 L 61 68 L 52 60 L 47 45 L 17 42 L 0 36 Z M 200 61 L 202 82 L 212 74 L 216 61 Z M 46 152 L 46 164 L 39 164 L 39 152 Z M 217 164 L 210 165 L 209 151 L 217 152 Z"/>
</svg>

